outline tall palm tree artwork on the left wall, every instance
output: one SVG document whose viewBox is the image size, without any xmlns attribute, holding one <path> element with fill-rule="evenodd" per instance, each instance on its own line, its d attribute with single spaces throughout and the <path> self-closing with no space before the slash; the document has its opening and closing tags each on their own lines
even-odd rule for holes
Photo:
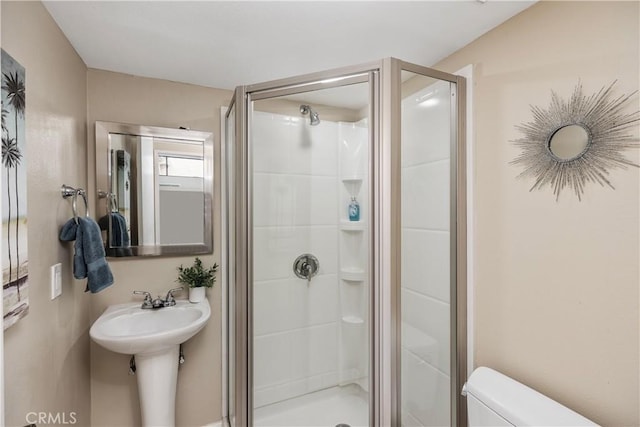
<svg viewBox="0 0 640 427">
<path fill-rule="evenodd" d="M 28 313 L 25 70 L 2 50 L 2 302 L 4 329 Z M 5 255 L 6 254 L 6 255 Z"/>
</svg>

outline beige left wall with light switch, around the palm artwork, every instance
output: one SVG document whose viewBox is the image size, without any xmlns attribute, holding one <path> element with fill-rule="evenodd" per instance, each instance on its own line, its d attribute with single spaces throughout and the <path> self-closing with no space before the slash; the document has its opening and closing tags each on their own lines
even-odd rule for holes
<svg viewBox="0 0 640 427">
<path fill-rule="evenodd" d="M 86 67 L 39 2 L 2 1 L 2 48 L 26 70 L 29 314 L 4 334 L 5 421 L 28 412 L 76 413 L 90 422 L 89 308 L 72 278 L 72 247 L 58 240 L 71 215 L 60 186 L 87 185 Z M 62 296 L 49 299 L 49 267 L 62 262 Z"/>
</svg>

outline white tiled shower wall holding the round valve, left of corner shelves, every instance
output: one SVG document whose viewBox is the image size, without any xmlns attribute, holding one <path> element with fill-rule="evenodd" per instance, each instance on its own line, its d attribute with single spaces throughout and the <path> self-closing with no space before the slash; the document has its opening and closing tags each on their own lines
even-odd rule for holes
<svg viewBox="0 0 640 427">
<path fill-rule="evenodd" d="M 255 112 L 254 406 L 338 384 L 338 125 Z M 311 253 L 311 283 L 293 262 Z"/>
</svg>

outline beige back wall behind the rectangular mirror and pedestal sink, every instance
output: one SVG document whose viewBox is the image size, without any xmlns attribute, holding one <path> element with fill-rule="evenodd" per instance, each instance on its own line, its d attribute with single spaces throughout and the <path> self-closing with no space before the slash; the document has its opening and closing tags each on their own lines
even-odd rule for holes
<svg viewBox="0 0 640 427">
<path fill-rule="evenodd" d="M 220 107 L 229 103 L 231 92 L 93 69 L 88 70 L 87 76 L 88 187 L 91 191 L 95 190 L 96 120 L 174 128 L 184 126 L 213 132 L 214 252 L 201 259 L 205 265 L 220 263 Z M 100 205 L 100 209 L 104 206 Z M 176 286 L 176 267 L 191 264 L 193 258 L 110 259 L 115 284 L 92 298 L 90 321 L 93 322 L 110 304 L 139 300 L 131 294 L 134 290 L 164 295 Z M 211 319 L 185 344 L 186 363 L 178 373 L 176 422 L 180 426 L 202 426 L 221 418 L 220 281 L 207 294 Z M 186 292 L 176 296 L 186 298 Z M 91 343 L 92 426 L 140 425 L 136 377 L 128 375 L 128 366 L 128 356 Z"/>
</svg>

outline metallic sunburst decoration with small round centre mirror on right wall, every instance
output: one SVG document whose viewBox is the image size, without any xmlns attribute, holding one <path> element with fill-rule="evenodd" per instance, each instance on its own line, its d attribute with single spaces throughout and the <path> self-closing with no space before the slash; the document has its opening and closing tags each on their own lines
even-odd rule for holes
<svg viewBox="0 0 640 427">
<path fill-rule="evenodd" d="M 533 121 L 516 125 L 524 136 L 511 141 L 521 149 L 511 164 L 524 168 L 519 178 L 533 177 L 530 191 L 549 185 L 558 200 L 569 187 L 582 200 L 588 182 L 614 188 L 608 178 L 610 169 L 639 167 L 623 154 L 638 147 L 629 130 L 640 121 L 640 111 L 624 112 L 638 91 L 612 99 L 615 83 L 591 96 L 583 95 L 578 83 L 566 101 L 551 91 L 548 109 L 531 106 Z M 558 149 L 563 144 L 574 148 Z"/>
</svg>

